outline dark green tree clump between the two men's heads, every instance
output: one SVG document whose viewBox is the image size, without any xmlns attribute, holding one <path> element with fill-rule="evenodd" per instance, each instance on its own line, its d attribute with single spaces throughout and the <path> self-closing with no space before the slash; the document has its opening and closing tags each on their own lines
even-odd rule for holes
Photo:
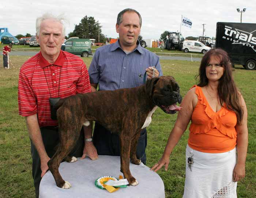
<svg viewBox="0 0 256 198">
<path fill-rule="evenodd" d="M 97 42 L 105 42 L 106 37 L 102 34 L 101 28 L 99 21 L 96 22 L 94 17 L 86 15 L 78 25 L 75 24 L 74 31 L 69 33 L 68 37 L 93 38 Z"/>
</svg>

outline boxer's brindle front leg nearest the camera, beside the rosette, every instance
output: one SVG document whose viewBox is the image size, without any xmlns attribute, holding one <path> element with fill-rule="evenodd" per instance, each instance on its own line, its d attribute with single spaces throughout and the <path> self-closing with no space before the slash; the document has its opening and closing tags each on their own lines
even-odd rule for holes
<svg viewBox="0 0 256 198">
<path fill-rule="evenodd" d="M 131 149 L 131 140 L 129 137 L 125 137 L 120 134 L 120 160 L 121 160 L 121 171 L 124 174 L 124 178 L 126 178 L 130 185 L 136 186 L 139 184 L 139 182 L 132 176 L 130 171 L 130 149 Z"/>
</svg>

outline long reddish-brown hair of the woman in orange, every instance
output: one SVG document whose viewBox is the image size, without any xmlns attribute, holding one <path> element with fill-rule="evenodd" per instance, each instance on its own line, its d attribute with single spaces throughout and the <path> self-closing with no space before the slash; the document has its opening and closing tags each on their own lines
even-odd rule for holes
<svg viewBox="0 0 256 198">
<path fill-rule="evenodd" d="M 232 71 L 231 71 L 231 62 L 230 58 L 226 51 L 222 49 L 211 49 L 209 50 L 202 58 L 199 74 L 196 76 L 199 77 L 199 87 L 204 87 L 208 84 L 208 78 L 206 77 L 206 66 L 210 62 L 212 56 L 218 57 L 219 64 L 224 68 L 222 77 L 219 79 L 218 85 L 218 97 L 221 104 L 226 103 L 226 107 L 229 110 L 232 110 L 237 115 L 237 123 L 242 123 L 242 118 L 244 111 L 240 105 L 240 95 L 236 84 L 233 80 Z"/>
</svg>

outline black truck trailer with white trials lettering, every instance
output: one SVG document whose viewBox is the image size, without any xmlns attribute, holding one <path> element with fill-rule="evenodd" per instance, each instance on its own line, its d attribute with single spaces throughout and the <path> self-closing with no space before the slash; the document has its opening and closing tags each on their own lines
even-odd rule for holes
<svg viewBox="0 0 256 198">
<path fill-rule="evenodd" d="M 226 50 L 233 64 L 256 69 L 256 23 L 218 22 L 216 48 Z"/>
</svg>

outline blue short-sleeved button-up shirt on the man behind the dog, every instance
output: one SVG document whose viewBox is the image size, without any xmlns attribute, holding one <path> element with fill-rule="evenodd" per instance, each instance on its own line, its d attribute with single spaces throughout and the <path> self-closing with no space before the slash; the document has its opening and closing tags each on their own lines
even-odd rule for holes
<svg viewBox="0 0 256 198">
<path fill-rule="evenodd" d="M 140 46 L 126 54 L 119 40 L 99 47 L 89 68 L 90 83 L 99 84 L 99 91 L 138 87 L 143 84 L 146 68 L 155 66 L 162 76 L 159 57 Z"/>
</svg>

